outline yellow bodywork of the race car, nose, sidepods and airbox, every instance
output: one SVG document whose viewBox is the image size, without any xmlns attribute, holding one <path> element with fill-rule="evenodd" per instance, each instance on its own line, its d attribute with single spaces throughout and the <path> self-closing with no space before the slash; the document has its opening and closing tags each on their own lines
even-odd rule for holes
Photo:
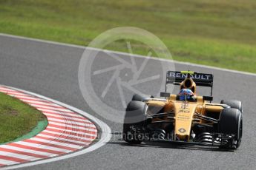
<svg viewBox="0 0 256 170">
<path fill-rule="evenodd" d="M 185 86 L 186 81 L 191 81 L 191 86 Z M 186 79 L 180 83 L 180 89 L 184 88 L 193 89 L 196 92 L 196 86 L 192 79 Z M 189 141 L 191 129 L 194 123 L 207 124 L 207 120 L 197 118 L 198 115 L 206 115 L 208 113 L 214 114 L 214 117 L 219 118 L 223 106 L 220 104 L 212 104 L 203 101 L 202 96 L 195 95 L 195 101 L 178 101 L 177 95 L 170 95 L 166 101 L 148 101 L 148 114 L 157 114 L 158 112 L 173 112 L 174 118 L 174 140 Z M 154 121 L 168 120 L 168 117 L 154 118 Z M 210 124 L 210 123 L 209 123 Z"/>
</svg>

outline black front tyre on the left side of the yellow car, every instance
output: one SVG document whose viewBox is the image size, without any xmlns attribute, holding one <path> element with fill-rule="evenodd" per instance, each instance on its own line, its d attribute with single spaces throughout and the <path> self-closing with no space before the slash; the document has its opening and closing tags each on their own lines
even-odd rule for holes
<svg viewBox="0 0 256 170">
<path fill-rule="evenodd" d="M 141 101 L 128 103 L 123 124 L 123 139 L 131 144 L 140 144 L 145 135 L 145 119 L 148 106 Z"/>
</svg>

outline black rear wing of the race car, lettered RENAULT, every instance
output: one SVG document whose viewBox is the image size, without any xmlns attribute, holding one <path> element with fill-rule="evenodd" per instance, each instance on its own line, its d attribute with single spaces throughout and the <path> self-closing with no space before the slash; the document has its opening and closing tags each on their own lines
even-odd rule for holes
<svg viewBox="0 0 256 170">
<path fill-rule="evenodd" d="M 184 79 L 187 78 L 187 75 L 190 75 L 190 78 L 193 79 L 194 83 L 197 86 L 209 86 L 211 87 L 211 95 L 213 89 L 213 78 L 214 76 L 206 73 L 197 73 L 197 72 L 176 72 L 176 71 L 168 71 L 166 72 L 166 83 L 165 83 L 165 92 L 167 90 L 167 84 L 180 85 Z"/>
</svg>

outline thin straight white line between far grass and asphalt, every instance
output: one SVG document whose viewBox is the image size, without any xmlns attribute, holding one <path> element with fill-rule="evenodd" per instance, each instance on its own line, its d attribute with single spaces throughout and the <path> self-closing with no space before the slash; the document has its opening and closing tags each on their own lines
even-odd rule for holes
<svg viewBox="0 0 256 170">
<path fill-rule="evenodd" d="M 0 33 L 0 36 L 8 37 L 8 38 L 17 38 L 17 39 L 22 39 L 22 40 L 27 40 L 27 41 L 35 41 L 39 43 L 44 43 L 44 44 L 53 44 L 53 45 L 58 45 L 58 46 L 65 46 L 65 47 L 73 47 L 73 48 L 78 48 L 78 49 L 88 49 L 88 50 L 96 50 L 96 51 L 102 51 L 102 52 L 107 52 L 107 53 L 114 53 L 116 55 L 128 55 L 128 56 L 133 56 L 137 58 L 145 58 L 144 55 L 136 55 L 136 54 L 130 54 L 127 52 L 118 52 L 118 51 L 112 51 L 112 50 L 102 50 L 98 48 L 93 48 L 93 47 L 84 47 L 84 46 L 79 46 L 79 45 L 74 45 L 74 44 L 66 44 L 66 43 L 60 43 L 60 42 L 55 42 L 55 41 L 47 41 L 47 40 L 42 40 L 42 39 L 37 39 L 37 38 L 27 38 L 27 37 L 22 37 L 18 35 L 10 35 L 10 34 L 4 34 Z M 233 69 L 222 69 L 218 67 L 211 67 L 211 66 L 206 66 L 206 65 L 201 65 L 201 64 L 191 64 L 188 62 L 182 62 L 182 61 L 174 61 L 174 60 L 168 60 L 168 59 L 163 59 L 163 58 L 151 58 L 152 60 L 160 60 L 160 61 L 166 61 L 166 62 L 172 62 L 176 64 L 183 64 L 183 65 L 189 65 L 189 66 L 194 66 L 194 67 L 202 67 L 206 69 L 215 69 L 215 70 L 220 70 L 224 72 L 234 72 L 237 74 L 243 74 L 243 75 L 252 75 L 256 76 L 255 73 L 251 72 L 241 72 Z"/>
</svg>

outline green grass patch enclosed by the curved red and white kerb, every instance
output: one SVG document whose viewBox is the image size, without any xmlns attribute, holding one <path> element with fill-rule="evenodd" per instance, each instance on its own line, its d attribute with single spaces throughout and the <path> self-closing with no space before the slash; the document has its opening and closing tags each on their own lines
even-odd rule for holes
<svg viewBox="0 0 256 170">
<path fill-rule="evenodd" d="M 0 143 L 26 135 L 45 116 L 33 107 L 0 92 Z"/>
</svg>

